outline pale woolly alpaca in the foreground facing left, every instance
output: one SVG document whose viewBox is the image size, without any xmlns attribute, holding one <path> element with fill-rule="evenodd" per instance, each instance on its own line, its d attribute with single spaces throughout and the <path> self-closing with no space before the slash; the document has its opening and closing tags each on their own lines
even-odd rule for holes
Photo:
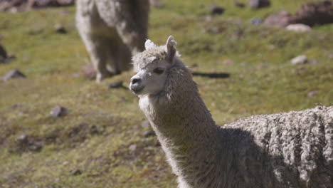
<svg viewBox="0 0 333 188">
<path fill-rule="evenodd" d="M 333 187 L 333 107 L 216 125 L 172 36 L 132 58 L 139 96 L 179 188 Z"/>
</svg>

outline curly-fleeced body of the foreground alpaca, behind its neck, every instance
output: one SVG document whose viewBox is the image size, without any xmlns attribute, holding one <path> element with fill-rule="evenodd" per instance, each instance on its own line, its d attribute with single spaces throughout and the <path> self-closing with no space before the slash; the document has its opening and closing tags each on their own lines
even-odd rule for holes
<svg viewBox="0 0 333 188">
<path fill-rule="evenodd" d="M 238 140 L 231 168 L 248 187 L 333 187 L 333 107 L 247 117 L 223 130 Z"/>
</svg>

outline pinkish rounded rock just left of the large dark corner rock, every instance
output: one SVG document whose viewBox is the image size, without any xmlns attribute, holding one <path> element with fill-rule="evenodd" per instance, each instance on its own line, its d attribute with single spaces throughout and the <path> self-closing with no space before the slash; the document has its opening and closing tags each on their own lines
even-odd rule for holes
<svg viewBox="0 0 333 188">
<path fill-rule="evenodd" d="M 270 14 L 264 21 L 265 26 L 285 27 L 290 24 L 292 16 L 287 11 L 280 11 L 275 14 Z"/>
</svg>

